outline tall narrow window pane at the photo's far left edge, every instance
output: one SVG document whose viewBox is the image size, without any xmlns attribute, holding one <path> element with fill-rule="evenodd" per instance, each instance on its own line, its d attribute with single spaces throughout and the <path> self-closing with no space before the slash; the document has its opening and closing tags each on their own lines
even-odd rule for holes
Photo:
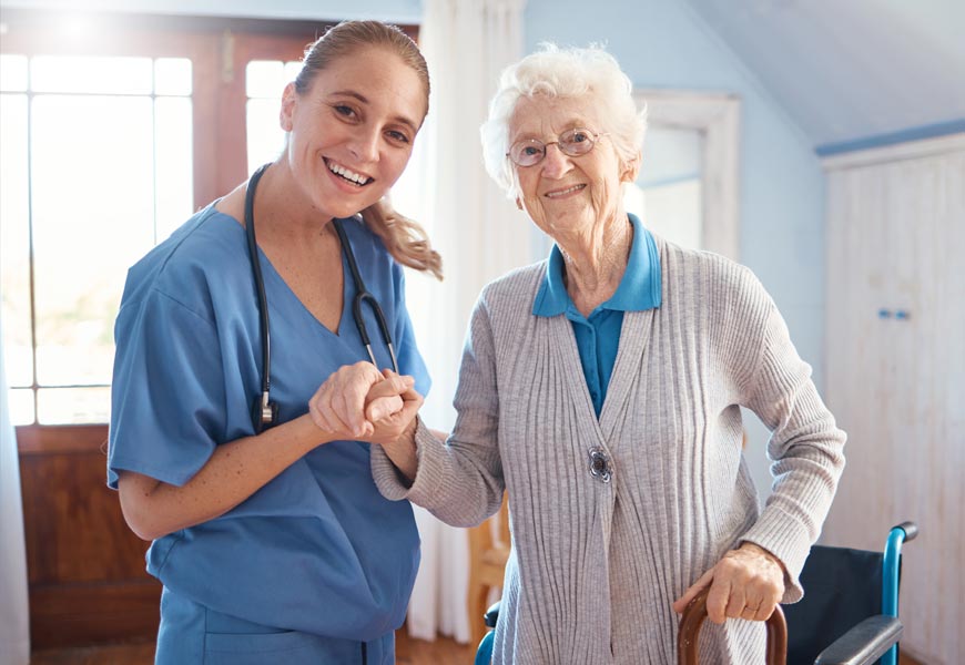
<svg viewBox="0 0 965 665">
<path fill-rule="evenodd" d="M 33 383 L 27 164 L 27 95 L 0 94 L 0 316 L 10 386 Z"/>
</svg>

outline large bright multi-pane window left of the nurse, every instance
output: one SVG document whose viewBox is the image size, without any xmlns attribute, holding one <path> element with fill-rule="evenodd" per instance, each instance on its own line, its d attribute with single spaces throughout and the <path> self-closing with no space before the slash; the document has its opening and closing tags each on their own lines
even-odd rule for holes
<svg viewBox="0 0 965 665">
<path fill-rule="evenodd" d="M 126 267 L 192 208 L 191 61 L 0 55 L 11 412 L 108 417 Z"/>
</svg>

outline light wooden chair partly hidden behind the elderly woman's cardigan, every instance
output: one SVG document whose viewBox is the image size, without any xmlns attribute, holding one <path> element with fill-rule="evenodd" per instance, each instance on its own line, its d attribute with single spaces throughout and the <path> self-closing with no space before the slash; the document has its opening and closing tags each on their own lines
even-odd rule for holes
<svg viewBox="0 0 965 665">
<path fill-rule="evenodd" d="M 482 615 L 488 608 L 489 592 L 502 589 L 502 574 L 509 559 L 509 501 L 502 494 L 502 505 L 495 515 L 468 530 L 469 532 L 469 641 L 475 647 L 486 634 Z"/>
</svg>

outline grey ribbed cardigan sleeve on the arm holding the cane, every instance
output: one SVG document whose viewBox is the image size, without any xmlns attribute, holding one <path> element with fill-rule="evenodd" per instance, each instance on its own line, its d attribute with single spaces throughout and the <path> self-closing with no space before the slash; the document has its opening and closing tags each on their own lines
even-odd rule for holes
<svg viewBox="0 0 965 665">
<path fill-rule="evenodd" d="M 763 348 L 744 406 L 771 430 L 773 484 L 764 510 L 742 540 L 783 562 L 788 579 L 782 602 L 793 603 L 803 595 L 799 575 L 844 469 L 845 433 L 817 395 L 811 367 L 798 356 L 784 319 L 770 298 L 768 304 Z"/>
</svg>

